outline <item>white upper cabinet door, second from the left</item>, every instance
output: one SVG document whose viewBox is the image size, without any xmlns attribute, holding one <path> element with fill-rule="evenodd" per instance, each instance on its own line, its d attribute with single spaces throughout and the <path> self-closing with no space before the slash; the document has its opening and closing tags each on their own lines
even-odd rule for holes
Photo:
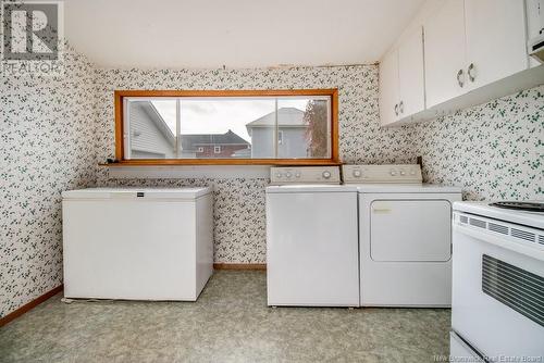
<svg viewBox="0 0 544 363">
<path fill-rule="evenodd" d="M 418 28 L 398 48 L 399 116 L 425 109 L 423 72 L 423 29 Z"/>
</svg>

